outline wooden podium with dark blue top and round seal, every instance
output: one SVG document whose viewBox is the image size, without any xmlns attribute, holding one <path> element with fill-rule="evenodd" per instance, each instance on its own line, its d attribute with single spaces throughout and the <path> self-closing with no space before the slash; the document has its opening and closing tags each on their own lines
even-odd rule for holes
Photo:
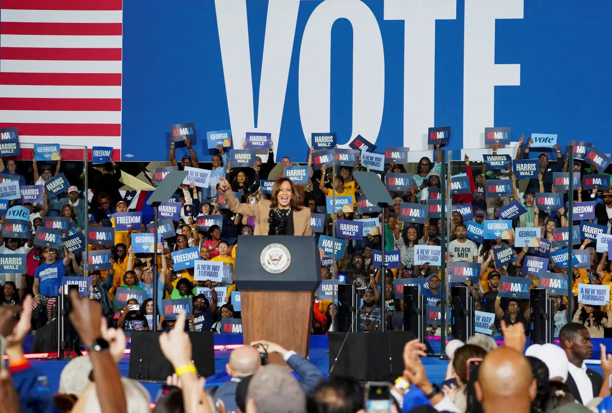
<svg viewBox="0 0 612 413">
<path fill-rule="evenodd" d="M 234 282 L 244 344 L 266 340 L 308 355 L 312 297 L 321 283 L 314 237 L 240 236 Z M 270 362 L 285 365 L 277 354 Z"/>
</svg>

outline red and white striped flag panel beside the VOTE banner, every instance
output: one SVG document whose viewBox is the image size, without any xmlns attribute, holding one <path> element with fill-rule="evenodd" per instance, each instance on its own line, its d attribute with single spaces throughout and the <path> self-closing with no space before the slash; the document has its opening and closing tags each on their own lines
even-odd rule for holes
<svg viewBox="0 0 612 413">
<path fill-rule="evenodd" d="M 89 159 L 112 146 L 119 159 L 122 20 L 122 0 L 2 0 L 0 128 L 17 126 L 22 143 L 88 146 Z"/>
</svg>

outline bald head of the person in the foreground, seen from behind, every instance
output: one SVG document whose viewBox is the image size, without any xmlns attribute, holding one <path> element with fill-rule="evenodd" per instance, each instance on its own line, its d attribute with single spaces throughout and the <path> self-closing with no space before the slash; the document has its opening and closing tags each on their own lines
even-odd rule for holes
<svg viewBox="0 0 612 413">
<path fill-rule="evenodd" d="M 476 398 L 485 413 L 531 412 L 535 386 L 527 358 L 507 347 L 494 349 L 485 356 L 474 383 Z"/>
</svg>

